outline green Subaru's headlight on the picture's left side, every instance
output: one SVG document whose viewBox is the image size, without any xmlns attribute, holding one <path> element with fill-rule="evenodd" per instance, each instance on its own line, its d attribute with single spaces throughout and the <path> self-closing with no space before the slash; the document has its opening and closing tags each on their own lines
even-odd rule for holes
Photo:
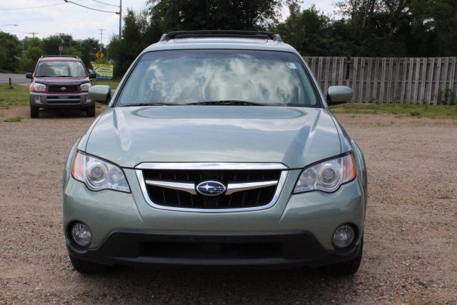
<svg viewBox="0 0 457 305">
<path fill-rule="evenodd" d="M 119 166 L 80 151 L 74 158 L 71 175 L 74 179 L 84 182 L 92 191 L 101 189 L 114 189 L 127 193 L 130 191 L 124 171 Z"/>
</svg>

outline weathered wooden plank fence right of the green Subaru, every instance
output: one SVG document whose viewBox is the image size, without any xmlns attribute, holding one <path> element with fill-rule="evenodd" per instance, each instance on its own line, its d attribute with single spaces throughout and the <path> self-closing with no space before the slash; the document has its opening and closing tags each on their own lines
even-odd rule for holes
<svg viewBox="0 0 457 305">
<path fill-rule="evenodd" d="M 303 57 L 326 93 L 350 86 L 356 103 L 456 104 L 456 57 Z"/>
</svg>

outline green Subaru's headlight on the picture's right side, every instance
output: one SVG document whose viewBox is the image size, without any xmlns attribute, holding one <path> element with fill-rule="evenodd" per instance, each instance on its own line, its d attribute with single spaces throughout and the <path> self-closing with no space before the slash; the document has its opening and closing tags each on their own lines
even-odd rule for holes
<svg viewBox="0 0 457 305">
<path fill-rule="evenodd" d="M 293 194 L 304 191 L 336 191 L 341 184 L 356 178 L 356 164 L 352 154 L 310 166 L 300 174 Z"/>
</svg>

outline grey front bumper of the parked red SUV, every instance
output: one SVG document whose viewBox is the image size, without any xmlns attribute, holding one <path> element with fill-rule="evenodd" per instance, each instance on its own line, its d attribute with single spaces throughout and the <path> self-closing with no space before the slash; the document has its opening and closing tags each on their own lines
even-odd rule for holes
<svg viewBox="0 0 457 305">
<path fill-rule="evenodd" d="M 30 92 L 30 104 L 46 109 L 79 109 L 94 105 L 89 94 L 66 92 L 65 94 L 50 94 Z"/>
</svg>

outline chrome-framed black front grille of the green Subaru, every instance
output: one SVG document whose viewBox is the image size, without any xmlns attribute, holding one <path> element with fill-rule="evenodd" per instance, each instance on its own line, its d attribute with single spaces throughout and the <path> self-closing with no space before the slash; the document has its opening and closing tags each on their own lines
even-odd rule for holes
<svg viewBox="0 0 457 305">
<path fill-rule="evenodd" d="M 146 201 L 159 209 L 246 211 L 276 203 L 287 176 L 283 164 L 140 164 L 136 168 Z M 223 185 L 215 194 L 196 186 Z M 199 188 L 201 190 L 201 188 Z M 221 193 L 221 194 L 219 194 Z"/>
</svg>

